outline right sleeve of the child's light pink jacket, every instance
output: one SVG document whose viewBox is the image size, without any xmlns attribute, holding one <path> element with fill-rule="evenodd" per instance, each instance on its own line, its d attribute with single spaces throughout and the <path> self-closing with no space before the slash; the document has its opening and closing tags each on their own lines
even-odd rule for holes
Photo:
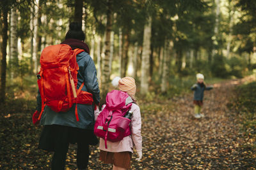
<svg viewBox="0 0 256 170">
<path fill-rule="evenodd" d="M 140 108 L 136 106 L 133 110 L 133 117 L 131 121 L 132 141 L 137 151 L 142 150 L 142 136 L 141 136 L 141 114 Z"/>
</svg>

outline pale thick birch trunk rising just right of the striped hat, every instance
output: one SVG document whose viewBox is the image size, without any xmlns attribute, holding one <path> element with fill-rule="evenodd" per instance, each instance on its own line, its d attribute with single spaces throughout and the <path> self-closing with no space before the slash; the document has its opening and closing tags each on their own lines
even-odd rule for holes
<svg viewBox="0 0 256 170">
<path fill-rule="evenodd" d="M 147 94 L 148 92 L 151 24 L 152 18 L 148 17 L 147 24 L 145 24 L 144 26 L 143 33 L 143 51 L 141 60 L 141 94 Z"/>
</svg>

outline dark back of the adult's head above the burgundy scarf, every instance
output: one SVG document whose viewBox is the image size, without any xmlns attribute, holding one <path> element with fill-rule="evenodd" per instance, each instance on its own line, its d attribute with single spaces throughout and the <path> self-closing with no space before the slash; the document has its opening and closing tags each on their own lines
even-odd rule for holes
<svg viewBox="0 0 256 170">
<path fill-rule="evenodd" d="M 69 24 L 69 30 L 66 34 L 65 39 L 72 38 L 72 39 L 79 39 L 81 41 L 84 41 L 85 35 L 82 31 L 82 24 L 79 22 L 71 22 Z"/>
</svg>

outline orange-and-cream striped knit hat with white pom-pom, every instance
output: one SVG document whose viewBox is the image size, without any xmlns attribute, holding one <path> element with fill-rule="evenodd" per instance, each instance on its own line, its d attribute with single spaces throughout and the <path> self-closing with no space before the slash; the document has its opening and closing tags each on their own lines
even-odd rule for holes
<svg viewBox="0 0 256 170">
<path fill-rule="evenodd" d="M 123 92 L 127 92 L 127 94 L 129 94 L 130 96 L 135 96 L 136 94 L 136 83 L 134 78 L 132 77 L 124 77 L 124 78 L 116 77 L 113 79 L 112 84 L 116 87 L 118 85 L 119 90 Z"/>
</svg>

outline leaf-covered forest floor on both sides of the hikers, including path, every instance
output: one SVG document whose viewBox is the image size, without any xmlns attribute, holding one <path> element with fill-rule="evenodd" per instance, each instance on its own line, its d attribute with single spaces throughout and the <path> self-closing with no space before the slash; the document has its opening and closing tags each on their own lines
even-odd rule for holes
<svg viewBox="0 0 256 170">
<path fill-rule="evenodd" d="M 253 77 L 227 80 L 205 91 L 202 113 L 193 117 L 193 92 L 170 99 L 140 102 L 143 158 L 132 169 L 255 169 L 255 138 L 241 131 L 241 117 L 230 109 L 236 87 Z M 51 153 L 38 150 L 40 127 L 31 114 L 15 113 L 0 118 L 0 169 L 50 169 Z M 248 147 L 248 146 L 254 146 Z M 76 145 L 70 145 L 67 169 L 76 169 Z M 110 169 L 99 161 L 92 146 L 88 169 Z"/>
</svg>

